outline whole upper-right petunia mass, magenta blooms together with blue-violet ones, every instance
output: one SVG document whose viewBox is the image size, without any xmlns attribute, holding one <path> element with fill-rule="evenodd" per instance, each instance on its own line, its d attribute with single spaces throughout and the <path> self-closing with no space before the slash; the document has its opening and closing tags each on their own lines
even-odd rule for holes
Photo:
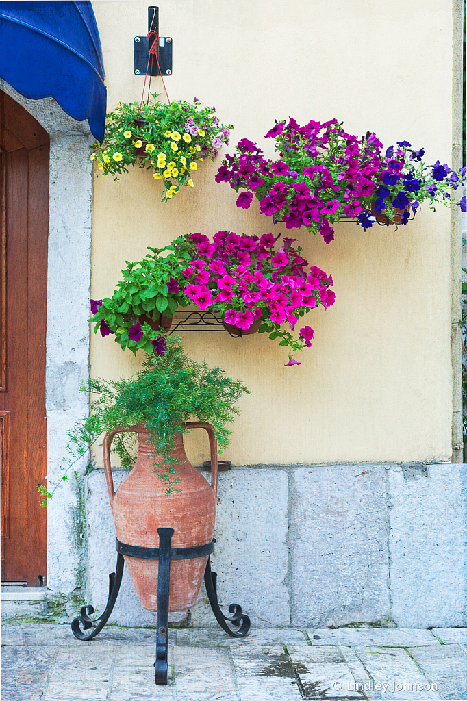
<svg viewBox="0 0 467 701">
<path fill-rule="evenodd" d="M 449 204 L 447 190 L 465 181 L 465 168 L 455 172 L 439 161 L 425 166 L 424 149 L 416 151 L 409 142 L 399 142 L 396 151 L 391 147 L 381 155 L 383 144 L 374 133 L 358 139 L 336 119 L 300 126 L 290 118 L 287 125 L 276 123 L 266 138 L 275 139 L 277 161 L 264 158 L 257 144 L 241 139 L 236 154 L 222 161 L 216 181 L 242 190 L 237 207 L 248 209 L 255 196 L 260 212 L 274 223 L 284 222 L 287 229 L 305 226 L 319 232 L 326 243 L 334 239 L 333 224 L 341 217 L 357 217 L 357 223 L 367 227 L 385 210 L 384 223 L 406 224 L 409 210 L 400 219 L 392 215 L 409 203 L 416 212 L 427 198 L 431 204 Z"/>
</svg>

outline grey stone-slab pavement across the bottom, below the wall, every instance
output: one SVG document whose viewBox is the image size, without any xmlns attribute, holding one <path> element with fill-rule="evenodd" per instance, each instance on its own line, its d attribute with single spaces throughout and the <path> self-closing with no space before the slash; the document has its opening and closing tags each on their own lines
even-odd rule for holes
<svg viewBox="0 0 467 701">
<path fill-rule="evenodd" d="M 467 700 L 467 629 L 170 629 L 169 683 L 154 683 L 156 631 L 4 624 L 2 701 Z"/>
</svg>

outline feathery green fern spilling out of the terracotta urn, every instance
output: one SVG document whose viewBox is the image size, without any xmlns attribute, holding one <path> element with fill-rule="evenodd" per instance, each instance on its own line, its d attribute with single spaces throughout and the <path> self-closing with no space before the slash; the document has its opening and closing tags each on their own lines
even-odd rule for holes
<svg viewBox="0 0 467 701">
<path fill-rule="evenodd" d="M 198 363 L 188 358 L 177 336 L 166 339 L 166 343 L 164 355 L 148 355 L 142 371 L 129 379 L 97 378 L 83 384 L 81 390 L 92 392 L 95 397 L 90 414 L 69 431 L 64 474 L 52 492 L 39 490 L 45 501 L 62 480 L 68 479 L 67 472 L 90 446 L 116 426 L 145 424 L 154 447 L 154 466 L 158 477 L 166 482 L 167 496 L 175 491 L 178 482 L 171 451 L 175 435 L 187 433 L 186 421 L 211 423 L 219 453 L 229 445 L 231 430 L 226 424 L 234 421 L 239 413 L 235 402 L 243 393 L 249 393 L 248 389 L 240 381 L 226 377 L 219 367 L 208 368 L 205 361 Z M 132 434 L 117 433 L 112 449 L 124 468 L 133 467 L 136 455 Z"/>
</svg>

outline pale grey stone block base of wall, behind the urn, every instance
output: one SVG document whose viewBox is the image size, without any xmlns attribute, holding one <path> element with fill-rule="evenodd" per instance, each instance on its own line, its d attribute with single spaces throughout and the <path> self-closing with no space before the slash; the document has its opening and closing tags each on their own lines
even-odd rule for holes
<svg viewBox="0 0 467 701">
<path fill-rule="evenodd" d="M 114 471 L 116 485 L 125 474 Z M 451 463 L 221 472 L 219 601 L 241 604 L 255 627 L 466 625 L 466 498 L 466 465 Z M 102 611 L 116 562 L 103 470 L 86 477 L 85 500 L 87 600 Z M 172 621 L 217 626 L 204 589 Z M 128 572 L 110 622 L 155 625 Z"/>
</svg>

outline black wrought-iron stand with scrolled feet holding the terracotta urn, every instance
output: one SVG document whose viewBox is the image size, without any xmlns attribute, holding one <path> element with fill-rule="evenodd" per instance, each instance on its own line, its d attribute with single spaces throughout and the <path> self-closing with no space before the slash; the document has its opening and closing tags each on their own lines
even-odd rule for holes
<svg viewBox="0 0 467 701">
<path fill-rule="evenodd" d="M 116 598 L 119 595 L 121 578 L 123 575 L 123 565 L 125 561 L 123 555 L 130 557 L 142 557 L 159 561 L 158 584 L 157 584 L 157 631 L 156 631 L 156 684 L 166 684 L 168 674 L 168 612 L 169 612 L 169 589 L 170 589 L 170 560 L 186 560 L 192 557 L 204 557 L 208 555 L 208 563 L 204 573 L 204 583 L 208 592 L 209 603 L 220 627 L 233 638 L 243 638 L 250 629 L 250 618 L 243 613 L 242 607 L 238 604 L 229 606 L 229 613 L 232 617 L 224 616 L 217 600 L 217 574 L 211 571 L 210 553 L 214 552 L 214 540 L 207 545 L 198 547 L 170 547 L 170 540 L 174 533 L 171 528 L 157 529 L 159 534 L 159 547 L 138 547 L 136 545 L 126 545 L 116 542 L 117 564 L 116 571 L 109 575 L 109 598 L 104 613 L 99 618 L 90 618 L 94 613 L 93 606 L 83 606 L 81 615 L 72 622 L 74 637 L 79 640 L 90 640 L 99 633 L 109 620 L 109 615 L 115 606 Z M 234 625 L 238 630 L 232 630 L 228 623 Z M 90 631 L 86 633 L 86 631 Z"/>
</svg>

